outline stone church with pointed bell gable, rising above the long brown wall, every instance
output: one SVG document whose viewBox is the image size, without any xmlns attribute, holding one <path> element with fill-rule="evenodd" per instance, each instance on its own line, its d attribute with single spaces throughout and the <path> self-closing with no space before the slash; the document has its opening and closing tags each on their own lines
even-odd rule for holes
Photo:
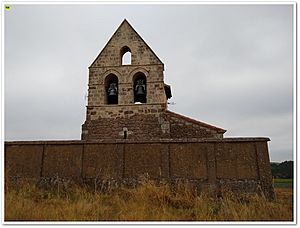
<svg viewBox="0 0 300 228">
<path fill-rule="evenodd" d="M 223 138 L 226 130 L 169 111 L 171 97 L 164 64 L 124 20 L 89 67 L 81 139 Z"/>
</svg>

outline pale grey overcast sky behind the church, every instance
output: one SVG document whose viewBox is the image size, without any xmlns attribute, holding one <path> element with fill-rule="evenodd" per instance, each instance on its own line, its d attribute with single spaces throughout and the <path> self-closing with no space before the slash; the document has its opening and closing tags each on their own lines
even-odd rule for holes
<svg viewBox="0 0 300 228">
<path fill-rule="evenodd" d="M 80 139 L 88 67 L 125 18 L 165 64 L 170 110 L 293 159 L 292 5 L 11 5 L 6 140 Z"/>
</svg>

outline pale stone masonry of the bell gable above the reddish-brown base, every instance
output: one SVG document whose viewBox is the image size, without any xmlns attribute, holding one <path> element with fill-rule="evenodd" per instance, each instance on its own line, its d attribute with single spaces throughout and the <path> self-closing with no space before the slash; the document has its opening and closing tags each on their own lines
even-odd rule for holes
<svg viewBox="0 0 300 228">
<path fill-rule="evenodd" d="M 122 49 L 127 47 L 131 50 L 131 64 L 122 65 Z M 116 106 L 127 105 L 127 109 L 135 109 L 134 103 L 134 77 L 137 73 L 143 73 L 146 77 L 147 105 L 166 106 L 164 91 L 164 65 L 136 33 L 136 31 L 124 20 L 101 51 L 96 60 L 89 67 L 89 88 L 87 109 L 93 111 L 93 117 L 87 111 L 86 119 L 107 117 L 107 110 L 120 114 Z M 118 78 L 118 105 L 107 104 L 106 78 L 109 75 Z"/>
</svg>

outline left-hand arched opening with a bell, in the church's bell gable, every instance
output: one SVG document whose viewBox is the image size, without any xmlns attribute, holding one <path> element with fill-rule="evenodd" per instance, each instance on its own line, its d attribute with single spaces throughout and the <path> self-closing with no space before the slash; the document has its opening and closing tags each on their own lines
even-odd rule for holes
<svg viewBox="0 0 300 228">
<path fill-rule="evenodd" d="M 107 104 L 118 104 L 118 77 L 114 74 L 109 74 L 105 78 L 105 93 Z"/>
</svg>

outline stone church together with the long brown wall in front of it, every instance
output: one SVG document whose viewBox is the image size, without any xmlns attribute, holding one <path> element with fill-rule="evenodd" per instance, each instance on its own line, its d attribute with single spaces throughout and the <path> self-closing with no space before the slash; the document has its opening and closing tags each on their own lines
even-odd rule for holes
<svg viewBox="0 0 300 228">
<path fill-rule="evenodd" d="M 5 142 L 7 179 L 119 186 L 148 174 L 274 198 L 270 139 L 224 138 L 224 129 L 169 111 L 164 64 L 126 20 L 89 67 L 88 87 L 82 140 Z"/>
</svg>

